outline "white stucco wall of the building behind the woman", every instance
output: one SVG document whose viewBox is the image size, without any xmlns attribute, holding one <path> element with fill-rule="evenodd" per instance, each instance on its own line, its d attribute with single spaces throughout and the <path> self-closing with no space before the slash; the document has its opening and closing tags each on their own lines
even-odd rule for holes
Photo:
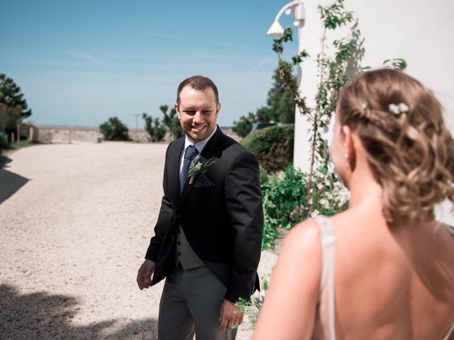
<svg viewBox="0 0 454 340">
<path fill-rule="evenodd" d="M 306 0 L 306 23 L 299 37 L 300 44 L 311 55 L 302 64 L 301 92 L 314 106 L 316 95 L 316 55 L 321 50 L 323 34 L 317 11 L 332 0 Z M 345 8 L 354 11 L 358 29 L 365 38 L 362 65 L 380 67 L 384 60 L 402 57 L 408 62 L 406 72 L 432 89 L 445 108 L 445 120 L 454 134 L 454 39 L 451 21 L 454 1 L 451 0 L 345 0 Z M 339 32 L 341 37 L 346 30 Z M 294 165 L 309 168 L 309 125 L 296 115 Z M 327 139 L 331 139 L 330 133 Z M 454 222 L 454 215 L 444 205 L 442 220 Z"/>
</svg>

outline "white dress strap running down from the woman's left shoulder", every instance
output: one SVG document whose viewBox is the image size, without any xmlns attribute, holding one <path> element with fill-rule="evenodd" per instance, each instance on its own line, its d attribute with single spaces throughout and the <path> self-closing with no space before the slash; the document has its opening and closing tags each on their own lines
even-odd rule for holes
<svg viewBox="0 0 454 340">
<path fill-rule="evenodd" d="M 319 215 L 315 217 L 320 229 L 321 242 L 321 280 L 320 292 L 323 288 L 328 289 L 328 329 L 329 339 L 336 340 L 336 319 L 334 305 L 334 283 L 336 272 L 336 235 L 334 234 L 333 225 L 328 217 Z"/>
</svg>

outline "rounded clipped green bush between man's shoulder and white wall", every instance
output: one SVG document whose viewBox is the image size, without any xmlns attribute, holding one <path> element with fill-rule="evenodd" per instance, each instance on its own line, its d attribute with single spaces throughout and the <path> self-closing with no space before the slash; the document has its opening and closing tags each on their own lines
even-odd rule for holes
<svg viewBox="0 0 454 340">
<path fill-rule="evenodd" d="M 244 138 L 243 146 L 252 152 L 269 172 L 285 169 L 293 160 L 294 125 L 275 125 Z"/>
</svg>

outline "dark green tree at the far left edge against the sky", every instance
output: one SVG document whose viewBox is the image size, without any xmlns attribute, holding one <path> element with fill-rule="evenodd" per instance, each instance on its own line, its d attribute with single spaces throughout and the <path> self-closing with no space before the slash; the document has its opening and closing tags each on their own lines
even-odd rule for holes
<svg viewBox="0 0 454 340">
<path fill-rule="evenodd" d="M 21 88 L 3 73 L 0 73 L 0 103 L 7 106 L 5 132 L 9 137 L 11 132 L 16 132 L 16 126 L 22 123 L 23 118 L 31 115 L 31 109 L 23 98 Z"/>
</svg>

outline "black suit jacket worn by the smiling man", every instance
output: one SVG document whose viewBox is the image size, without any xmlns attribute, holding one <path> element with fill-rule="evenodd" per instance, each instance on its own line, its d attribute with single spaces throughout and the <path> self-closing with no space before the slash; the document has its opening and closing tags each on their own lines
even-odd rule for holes
<svg viewBox="0 0 454 340">
<path fill-rule="evenodd" d="M 184 137 L 165 156 L 164 196 L 145 259 L 156 262 L 152 285 L 175 268 L 175 242 L 182 226 L 192 249 L 227 287 L 226 299 L 250 298 L 259 288 L 257 266 L 263 229 L 258 162 L 218 128 L 200 159 L 214 159 L 204 176 L 179 193 Z M 226 268 L 228 269 L 226 271 Z M 227 273 L 227 275 L 226 275 Z"/>
</svg>

